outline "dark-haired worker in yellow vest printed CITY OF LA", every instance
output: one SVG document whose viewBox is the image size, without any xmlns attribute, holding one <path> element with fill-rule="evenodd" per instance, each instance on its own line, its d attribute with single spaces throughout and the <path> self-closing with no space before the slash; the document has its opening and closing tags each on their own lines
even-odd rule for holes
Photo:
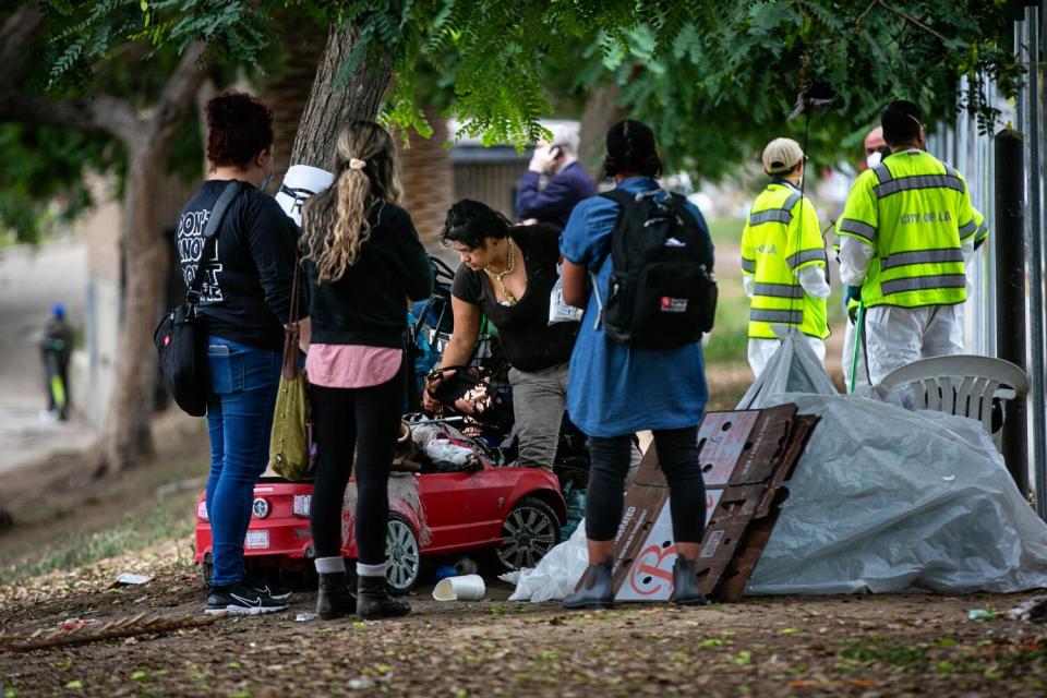
<svg viewBox="0 0 1047 698">
<path fill-rule="evenodd" d="M 859 332 L 872 385 L 963 351 L 956 325 L 978 231 L 963 177 L 924 149 L 919 107 L 891 103 L 880 122 L 891 155 L 858 176 L 837 221 L 840 279 L 868 309 Z"/>
</svg>

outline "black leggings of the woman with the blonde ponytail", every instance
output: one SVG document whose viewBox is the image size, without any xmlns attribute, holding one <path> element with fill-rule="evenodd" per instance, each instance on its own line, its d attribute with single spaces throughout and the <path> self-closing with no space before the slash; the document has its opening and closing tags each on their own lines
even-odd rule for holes
<svg viewBox="0 0 1047 698">
<path fill-rule="evenodd" d="M 404 372 L 369 388 L 309 386 L 316 422 L 316 481 L 310 526 L 317 557 L 341 555 L 341 507 L 357 454 L 358 561 L 385 563 L 389 466 L 404 409 Z"/>
</svg>

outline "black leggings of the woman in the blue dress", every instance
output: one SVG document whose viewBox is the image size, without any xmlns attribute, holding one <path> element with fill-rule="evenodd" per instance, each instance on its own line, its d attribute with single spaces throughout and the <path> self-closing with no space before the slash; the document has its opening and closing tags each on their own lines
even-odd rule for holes
<svg viewBox="0 0 1047 698">
<path fill-rule="evenodd" d="M 698 462 L 698 428 L 655 431 L 654 445 L 669 481 L 673 539 L 700 543 L 706 526 L 706 483 Z M 586 495 L 586 537 L 591 541 L 610 541 L 618 532 L 630 448 L 628 434 L 589 437 L 592 467 Z"/>
</svg>

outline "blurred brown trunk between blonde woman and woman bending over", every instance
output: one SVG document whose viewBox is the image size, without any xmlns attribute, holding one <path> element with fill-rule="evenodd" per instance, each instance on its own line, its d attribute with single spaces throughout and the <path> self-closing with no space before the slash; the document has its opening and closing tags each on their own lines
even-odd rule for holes
<svg viewBox="0 0 1047 698">
<path fill-rule="evenodd" d="M 404 207 L 411 214 L 414 228 L 430 254 L 446 254 L 438 240 L 447 209 L 455 203 L 455 170 L 447 142 L 447 120 L 433 106 L 424 108 L 433 135 L 423 139 L 412 134 L 410 147 L 397 137 L 400 178 L 404 182 Z"/>
</svg>

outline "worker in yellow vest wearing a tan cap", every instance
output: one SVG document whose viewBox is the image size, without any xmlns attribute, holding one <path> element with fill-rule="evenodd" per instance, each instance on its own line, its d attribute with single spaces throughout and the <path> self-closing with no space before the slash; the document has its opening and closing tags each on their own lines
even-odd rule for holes
<svg viewBox="0 0 1047 698">
<path fill-rule="evenodd" d="M 753 203 L 742 230 L 742 279 L 749 308 L 749 366 L 757 376 L 781 341 L 775 325 L 803 333 L 818 359 L 826 359 L 826 245 L 818 214 L 799 190 L 804 152 L 791 139 L 763 148 L 771 181 Z"/>
</svg>

